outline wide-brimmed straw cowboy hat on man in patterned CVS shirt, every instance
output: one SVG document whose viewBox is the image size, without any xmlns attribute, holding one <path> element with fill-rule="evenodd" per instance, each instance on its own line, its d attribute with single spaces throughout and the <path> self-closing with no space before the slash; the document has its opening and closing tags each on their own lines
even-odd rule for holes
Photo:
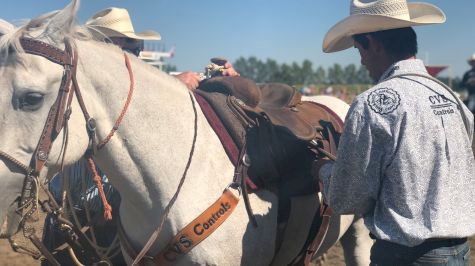
<svg viewBox="0 0 475 266">
<path fill-rule="evenodd" d="M 323 51 L 338 52 L 353 46 L 352 36 L 359 33 L 439 24 L 445 14 L 428 3 L 406 0 L 351 0 L 350 16 L 338 22 L 325 35 Z"/>
</svg>

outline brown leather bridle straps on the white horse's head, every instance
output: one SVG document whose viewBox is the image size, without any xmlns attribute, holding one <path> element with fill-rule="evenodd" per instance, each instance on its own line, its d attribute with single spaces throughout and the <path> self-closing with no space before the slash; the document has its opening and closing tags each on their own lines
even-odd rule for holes
<svg viewBox="0 0 475 266">
<path fill-rule="evenodd" d="M 61 130 L 67 127 L 67 123 L 71 115 L 71 103 L 74 94 L 76 94 L 79 106 L 81 107 L 82 113 L 86 120 L 86 128 L 89 135 L 89 146 L 95 146 L 95 120 L 87 112 L 76 79 L 78 62 L 77 51 L 73 48 L 73 45 L 68 39 L 65 39 L 64 43 L 65 50 L 63 51 L 50 44 L 38 40 L 30 38 L 20 39 L 20 44 L 26 53 L 44 57 L 53 63 L 61 65 L 63 67 L 63 77 L 58 90 L 58 96 L 49 110 L 43 131 L 30 163 L 26 165 L 8 153 L 0 150 L 0 158 L 15 165 L 25 174 L 23 188 L 17 208 L 17 213 L 22 216 L 20 228 L 23 229 L 25 237 L 29 238 L 32 243 L 41 251 L 41 253 L 43 253 L 43 255 L 45 255 L 47 259 L 50 260 L 51 263 L 55 263 L 57 261 L 54 259 L 54 257 L 52 257 L 51 253 L 47 251 L 45 246 L 38 239 L 35 234 L 35 230 L 33 228 L 28 228 L 25 223 L 38 209 L 38 190 L 39 186 L 41 185 L 38 181 L 38 178 L 41 170 L 46 165 L 54 140 L 60 134 Z M 52 199 L 52 197 L 49 198 L 50 200 Z M 56 205 L 56 207 L 58 207 L 57 204 L 52 205 Z M 57 209 L 59 209 L 59 207 Z M 15 248 L 21 248 L 18 245 L 15 244 L 14 246 L 13 244 L 12 247 L 14 250 Z M 32 251 L 26 248 L 23 248 L 23 250 L 30 255 L 35 255 Z M 45 251 L 51 255 L 51 258 L 45 254 Z M 36 255 L 36 257 L 38 257 L 38 255 Z"/>
</svg>

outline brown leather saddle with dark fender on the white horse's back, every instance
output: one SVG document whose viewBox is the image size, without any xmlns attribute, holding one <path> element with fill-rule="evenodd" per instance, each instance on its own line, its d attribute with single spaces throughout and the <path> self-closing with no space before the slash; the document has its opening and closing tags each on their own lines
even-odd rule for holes
<svg viewBox="0 0 475 266">
<path fill-rule="evenodd" d="M 196 93 L 212 107 L 237 148 L 249 155 L 247 175 L 254 185 L 251 189 L 268 189 L 278 195 L 278 223 L 286 224 L 292 199 L 318 192 L 318 181 L 312 175 L 313 162 L 324 156 L 336 156 L 343 131 L 340 118 L 323 105 L 302 101 L 295 88 L 281 83 L 257 85 L 243 77 L 215 77 L 203 81 Z M 205 116 L 210 121 L 206 111 Z M 215 131 L 219 137 L 223 130 Z M 226 149 L 225 142 L 222 140 Z M 246 193 L 243 196 L 248 205 Z M 246 208 L 249 212 L 250 207 Z M 314 219 L 319 217 L 315 215 Z M 311 224 L 300 259 L 315 242 L 315 227 L 322 223 Z M 280 244 L 276 246 L 279 248 Z"/>
</svg>

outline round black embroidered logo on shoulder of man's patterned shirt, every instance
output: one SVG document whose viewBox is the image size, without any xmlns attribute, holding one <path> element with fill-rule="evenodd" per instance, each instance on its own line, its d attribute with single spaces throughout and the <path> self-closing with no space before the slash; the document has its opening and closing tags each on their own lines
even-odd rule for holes
<svg viewBox="0 0 475 266">
<path fill-rule="evenodd" d="M 381 88 L 369 94 L 368 103 L 373 111 L 385 115 L 392 113 L 399 107 L 401 97 L 392 89 Z"/>
</svg>

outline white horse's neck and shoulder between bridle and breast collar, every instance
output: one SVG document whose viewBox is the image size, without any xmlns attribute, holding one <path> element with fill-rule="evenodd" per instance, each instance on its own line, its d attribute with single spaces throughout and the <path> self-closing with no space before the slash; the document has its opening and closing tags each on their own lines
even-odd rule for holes
<svg viewBox="0 0 475 266">
<path fill-rule="evenodd" d="M 81 56 L 83 49 L 88 51 L 87 56 Z M 85 42 L 79 46 L 79 53 L 84 76 L 78 80 L 89 80 L 93 93 L 85 101 L 91 103 L 90 113 L 97 120 L 102 139 L 113 127 L 127 98 L 129 76 L 123 55 L 110 47 Z M 121 220 L 126 231 L 132 225 L 124 217 L 134 217 L 133 227 L 141 232 L 130 234 L 136 236 L 132 241 L 143 243 L 156 228 L 190 157 L 195 113 L 189 92 L 181 82 L 135 57 L 131 65 L 135 76 L 132 101 L 120 128 L 98 152 L 97 160 L 121 194 Z M 233 167 L 199 106 L 196 108 L 197 143 L 180 197 L 212 202 L 231 181 Z M 203 178 L 210 177 L 212 184 L 205 183 L 210 193 L 194 195 L 200 183 L 209 182 Z M 186 201 L 179 199 L 177 205 L 180 204 L 181 210 L 186 210 Z M 170 219 L 180 219 L 174 215 Z"/>
</svg>

